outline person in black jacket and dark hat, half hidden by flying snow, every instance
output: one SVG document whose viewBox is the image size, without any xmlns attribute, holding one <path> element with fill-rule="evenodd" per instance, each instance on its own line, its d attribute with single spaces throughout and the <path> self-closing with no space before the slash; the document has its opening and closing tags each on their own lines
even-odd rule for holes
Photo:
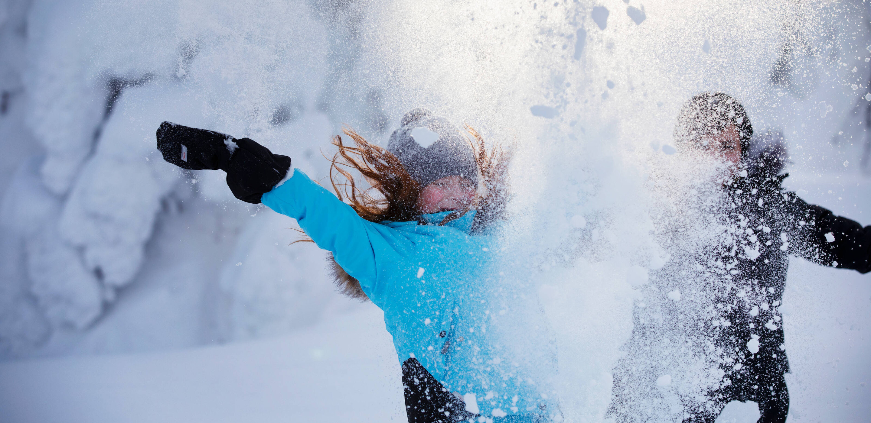
<svg viewBox="0 0 871 423">
<path fill-rule="evenodd" d="M 677 338 L 673 334 L 698 329 L 695 333 L 700 334 L 700 339 L 696 344 L 704 347 L 696 354 L 713 357 L 708 370 L 716 377 L 702 393 L 685 394 L 679 399 L 682 411 L 678 414 L 684 423 L 712 423 L 732 400 L 755 401 L 760 408 L 760 422 L 784 422 L 789 409 L 784 373 L 789 372 L 789 365 L 778 306 L 787 279 L 788 256 L 869 272 L 871 226 L 862 227 L 848 218 L 834 216 L 819 205 L 808 205 L 794 192 L 784 191 L 781 183 L 787 175 L 780 171 L 786 149 L 782 140 L 776 132 L 753 138 L 744 107 L 722 92 L 699 94 L 684 105 L 675 141 L 687 157 L 701 155 L 726 164 L 717 209 L 721 225 L 729 228 L 726 242 L 715 248 L 685 252 L 677 260 L 672 258 L 672 262 L 692 262 L 694 265 L 686 265 L 694 272 L 692 277 L 712 285 L 714 293 L 706 297 L 706 304 L 692 305 L 706 309 L 696 314 L 704 318 L 694 320 L 685 318 L 686 309 L 678 311 L 677 307 L 686 306 L 676 305 L 679 301 L 659 300 L 657 312 L 665 317 L 658 320 L 639 318 L 642 312 L 636 308 L 635 328 L 625 346 L 629 354 L 614 371 L 609 415 L 619 422 L 647 420 L 638 410 L 650 409 L 650 403 L 642 406 L 645 399 L 633 399 L 633 395 L 662 396 L 654 388 L 642 393 L 638 386 L 639 380 L 658 376 L 645 374 L 644 366 L 638 366 L 645 357 L 650 360 L 651 339 L 667 340 L 667 333 Z M 679 279 L 675 274 L 664 269 L 660 275 L 654 273 L 652 279 Z M 679 274 L 687 273 L 684 270 Z M 652 296 L 665 297 L 662 291 L 668 289 L 654 289 Z M 679 293 L 667 295 L 672 300 L 680 299 Z M 652 332 L 658 334 L 652 337 Z M 651 373 L 649 369 L 655 366 L 647 366 L 647 372 Z M 671 384 L 671 376 L 667 380 L 659 378 L 659 386 Z"/>
</svg>

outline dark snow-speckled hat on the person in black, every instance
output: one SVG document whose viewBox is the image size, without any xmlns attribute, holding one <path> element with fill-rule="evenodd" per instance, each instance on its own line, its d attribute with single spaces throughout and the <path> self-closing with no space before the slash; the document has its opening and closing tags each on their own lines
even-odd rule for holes
<svg viewBox="0 0 871 423">
<path fill-rule="evenodd" d="M 692 97 L 680 109 L 674 139 L 678 144 L 699 144 L 702 138 L 735 125 L 741 138 L 741 156 L 750 151 L 753 125 L 744 106 L 725 92 L 703 92 Z"/>
</svg>

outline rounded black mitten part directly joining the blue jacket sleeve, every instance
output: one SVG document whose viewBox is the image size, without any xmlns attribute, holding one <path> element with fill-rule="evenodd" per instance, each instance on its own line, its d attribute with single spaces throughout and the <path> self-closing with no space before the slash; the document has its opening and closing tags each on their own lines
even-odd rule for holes
<svg viewBox="0 0 871 423">
<path fill-rule="evenodd" d="M 239 148 L 225 168 L 226 185 L 233 195 L 248 203 L 260 203 L 260 196 L 272 191 L 290 170 L 290 158 L 273 154 L 252 139 L 234 140 Z"/>
</svg>

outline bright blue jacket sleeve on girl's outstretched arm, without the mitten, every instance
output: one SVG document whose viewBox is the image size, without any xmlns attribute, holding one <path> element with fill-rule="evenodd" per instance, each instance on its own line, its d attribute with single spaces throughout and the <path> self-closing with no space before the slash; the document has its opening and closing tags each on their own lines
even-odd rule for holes
<svg viewBox="0 0 871 423">
<path fill-rule="evenodd" d="M 333 252 L 336 263 L 368 290 L 375 290 L 375 281 L 385 266 L 402 261 L 397 256 L 411 250 L 408 238 L 361 218 L 299 169 L 263 194 L 261 201 L 273 211 L 295 218 L 316 245 Z"/>
</svg>

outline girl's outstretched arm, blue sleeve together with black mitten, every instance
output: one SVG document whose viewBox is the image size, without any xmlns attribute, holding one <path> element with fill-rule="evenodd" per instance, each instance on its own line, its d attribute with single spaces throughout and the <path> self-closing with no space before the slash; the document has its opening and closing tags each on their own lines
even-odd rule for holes
<svg viewBox="0 0 871 423">
<path fill-rule="evenodd" d="M 169 122 L 160 125 L 157 138 L 167 162 L 191 170 L 224 170 L 236 198 L 254 204 L 262 201 L 297 219 L 314 243 L 333 252 L 336 262 L 363 287 L 375 289 L 381 267 L 396 261 L 388 257 L 411 244 L 395 230 L 360 218 L 305 173 L 291 169 L 290 158 L 273 154 L 251 139 Z"/>
</svg>

